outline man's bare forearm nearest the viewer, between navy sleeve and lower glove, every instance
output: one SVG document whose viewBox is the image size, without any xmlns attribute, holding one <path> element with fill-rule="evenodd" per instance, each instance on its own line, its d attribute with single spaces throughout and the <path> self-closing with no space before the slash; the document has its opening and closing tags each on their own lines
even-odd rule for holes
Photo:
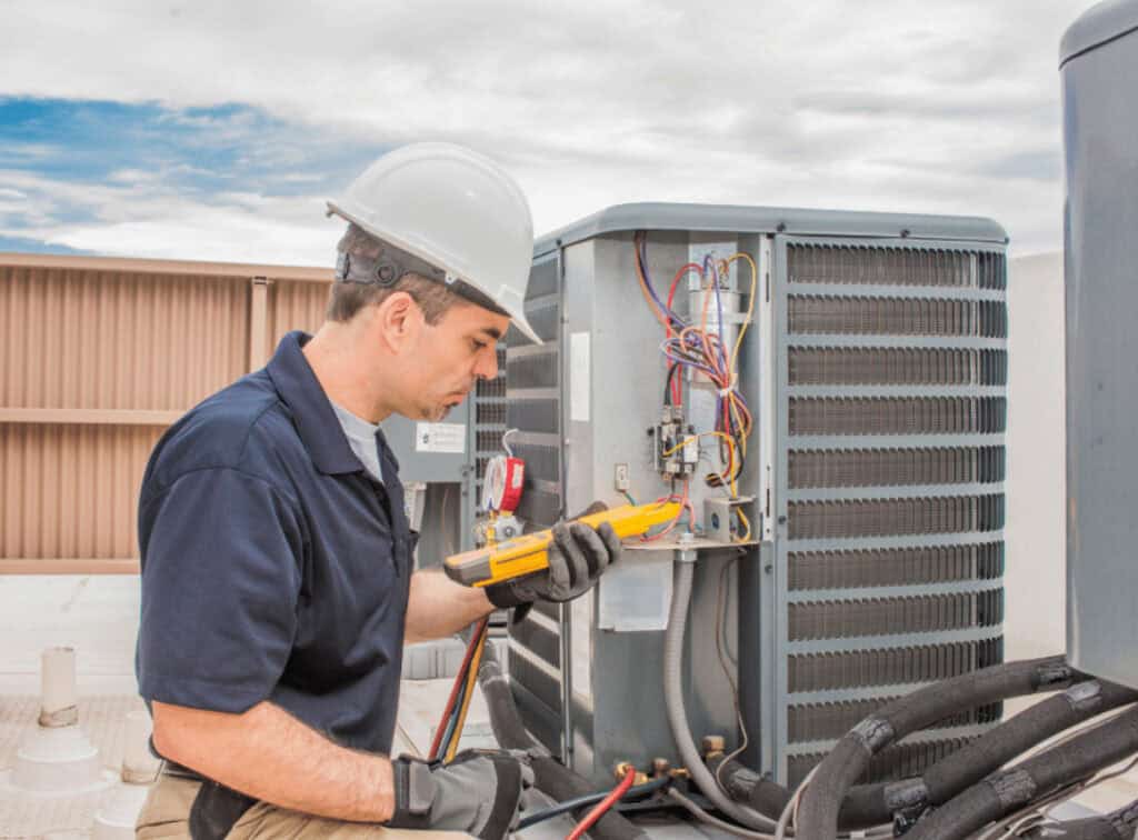
<svg viewBox="0 0 1138 840">
<path fill-rule="evenodd" d="M 155 702 L 164 757 L 250 797 L 292 810 L 381 823 L 395 810 L 391 763 L 332 743 L 278 706 L 241 715 Z"/>
</svg>

